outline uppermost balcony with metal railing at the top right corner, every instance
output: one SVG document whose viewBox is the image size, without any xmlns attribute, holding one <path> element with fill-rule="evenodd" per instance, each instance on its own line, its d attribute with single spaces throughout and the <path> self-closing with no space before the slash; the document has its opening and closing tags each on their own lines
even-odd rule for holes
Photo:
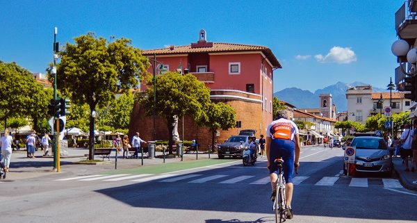
<svg viewBox="0 0 417 223">
<path fill-rule="evenodd" d="M 403 40 L 417 38 L 417 3 L 410 0 L 408 3 L 402 4 L 400 9 L 395 13 L 395 30 Z M 414 40 L 410 40 L 414 44 Z"/>
</svg>

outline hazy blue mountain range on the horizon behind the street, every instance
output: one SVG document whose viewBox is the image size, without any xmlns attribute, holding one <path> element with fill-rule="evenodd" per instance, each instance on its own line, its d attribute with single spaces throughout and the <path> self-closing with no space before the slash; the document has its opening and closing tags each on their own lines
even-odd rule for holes
<svg viewBox="0 0 417 223">
<path fill-rule="evenodd" d="M 336 112 L 347 110 L 346 90 L 359 85 L 370 85 L 367 83 L 338 82 L 325 88 L 318 89 L 314 93 L 300 88 L 285 88 L 274 93 L 280 101 L 286 101 L 296 108 L 320 108 L 320 94 L 332 94 L 333 103 L 336 104 Z M 372 87 L 373 92 L 386 92 L 384 88 Z"/>
</svg>

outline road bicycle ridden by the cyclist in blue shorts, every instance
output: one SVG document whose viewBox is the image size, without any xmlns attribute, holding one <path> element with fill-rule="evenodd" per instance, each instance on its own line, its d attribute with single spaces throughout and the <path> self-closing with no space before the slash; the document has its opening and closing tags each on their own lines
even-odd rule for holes
<svg viewBox="0 0 417 223">
<path fill-rule="evenodd" d="M 285 179 L 282 170 L 284 160 L 277 158 L 274 162 L 278 165 L 278 179 L 275 182 L 275 200 L 272 208 L 275 211 L 275 223 L 281 223 L 286 221 Z"/>
</svg>

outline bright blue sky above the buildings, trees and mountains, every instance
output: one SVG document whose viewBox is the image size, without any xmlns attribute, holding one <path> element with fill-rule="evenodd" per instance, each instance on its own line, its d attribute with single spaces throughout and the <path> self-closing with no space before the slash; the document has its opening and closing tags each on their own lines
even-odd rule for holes
<svg viewBox="0 0 417 223">
<path fill-rule="evenodd" d="M 274 91 L 314 91 L 337 81 L 385 87 L 394 78 L 394 14 L 404 1 L 1 1 L 0 60 L 31 72 L 52 61 L 58 42 L 93 31 L 140 49 L 196 42 L 270 47 L 282 69 Z"/>
</svg>

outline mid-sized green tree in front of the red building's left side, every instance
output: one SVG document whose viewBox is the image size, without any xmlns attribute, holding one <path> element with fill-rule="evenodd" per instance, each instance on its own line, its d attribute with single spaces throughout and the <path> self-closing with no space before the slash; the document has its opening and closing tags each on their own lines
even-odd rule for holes
<svg viewBox="0 0 417 223">
<path fill-rule="evenodd" d="M 207 122 L 208 117 L 204 108 L 210 103 L 210 91 L 204 83 L 197 80 L 193 74 L 181 75 L 177 72 L 167 72 L 156 76 L 156 106 L 154 106 L 154 88 L 152 76 L 147 80 L 149 88 L 140 98 L 140 104 L 147 115 L 153 112 L 166 120 L 169 138 L 169 152 L 172 154 L 172 130 L 174 117 L 191 115 L 197 123 Z"/>
</svg>

